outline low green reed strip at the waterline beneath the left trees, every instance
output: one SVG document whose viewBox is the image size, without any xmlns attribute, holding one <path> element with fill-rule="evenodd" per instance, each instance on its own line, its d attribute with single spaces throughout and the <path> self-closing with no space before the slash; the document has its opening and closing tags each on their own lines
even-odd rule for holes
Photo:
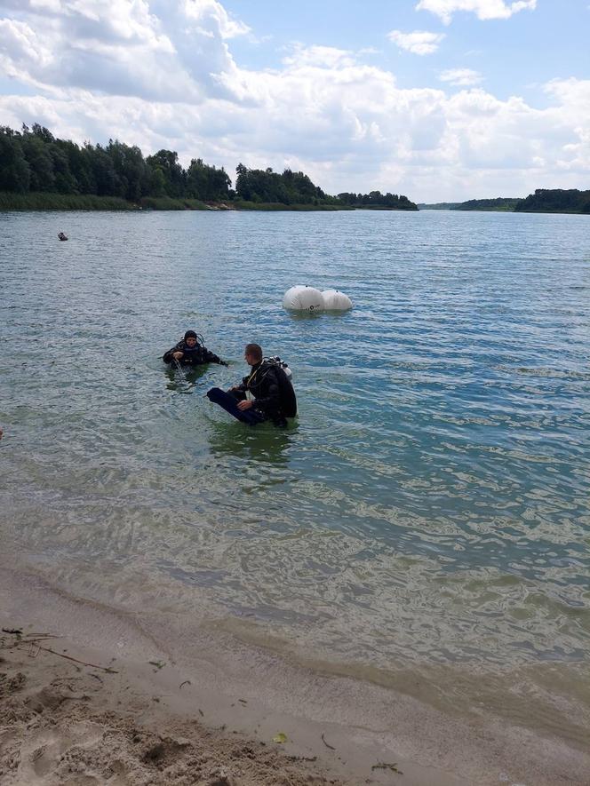
<svg viewBox="0 0 590 786">
<path fill-rule="evenodd" d="M 69 195 L 69 194 L 12 194 L 0 193 L 0 212 L 34 212 L 34 211 L 69 211 L 69 210 L 115 210 L 121 212 L 150 210 L 261 210 L 275 212 L 289 210 L 291 212 L 309 212 L 311 210 L 390 210 L 395 212 L 416 212 L 417 208 L 391 208 L 387 206 L 359 206 L 335 204 L 283 204 L 282 202 L 201 202 L 197 199 L 171 199 L 171 197 L 147 196 L 140 202 L 128 202 L 116 196 Z"/>
</svg>

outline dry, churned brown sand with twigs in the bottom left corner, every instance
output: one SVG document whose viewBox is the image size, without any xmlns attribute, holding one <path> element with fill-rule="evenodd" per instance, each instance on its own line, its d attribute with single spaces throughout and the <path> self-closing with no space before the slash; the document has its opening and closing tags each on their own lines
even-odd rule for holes
<svg viewBox="0 0 590 786">
<path fill-rule="evenodd" d="M 276 744 L 207 728 L 200 708 L 195 720 L 179 718 L 160 707 L 169 687 L 139 671 L 82 663 L 91 652 L 64 639 L 25 636 L 19 646 L 9 637 L 0 675 L 2 783 L 339 782 L 313 757 L 283 756 Z M 80 657 L 68 660 L 65 650 Z"/>
</svg>

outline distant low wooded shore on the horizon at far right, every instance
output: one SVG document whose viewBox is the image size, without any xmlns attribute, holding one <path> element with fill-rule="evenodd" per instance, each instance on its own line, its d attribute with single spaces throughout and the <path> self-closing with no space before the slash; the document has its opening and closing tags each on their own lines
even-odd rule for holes
<svg viewBox="0 0 590 786">
<path fill-rule="evenodd" d="M 510 213 L 590 213 L 590 191 L 538 188 L 526 199 L 498 196 L 467 202 L 419 202 L 419 210 L 502 210 Z"/>
</svg>

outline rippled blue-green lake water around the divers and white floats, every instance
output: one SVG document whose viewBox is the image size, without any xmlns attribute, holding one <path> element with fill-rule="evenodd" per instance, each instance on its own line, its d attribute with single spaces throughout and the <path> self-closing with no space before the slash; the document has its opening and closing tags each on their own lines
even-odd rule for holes
<svg viewBox="0 0 590 786">
<path fill-rule="evenodd" d="M 0 214 L 2 559 L 447 707 L 544 711 L 575 738 L 589 230 L 436 211 Z M 288 314 L 297 283 L 355 308 Z M 167 371 L 187 328 L 230 368 Z M 204 397 L 243 377 L 248 341 L 293 370 L 286 431 Z"/>
</svg>

